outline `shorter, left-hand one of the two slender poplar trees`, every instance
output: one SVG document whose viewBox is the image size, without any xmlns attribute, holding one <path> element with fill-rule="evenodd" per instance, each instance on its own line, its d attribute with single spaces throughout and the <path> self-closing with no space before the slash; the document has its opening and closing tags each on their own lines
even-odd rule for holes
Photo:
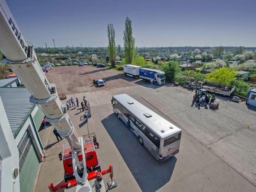
<svg viewBox="0 0 256 192">
<path fill-rule="evenodd" d="M 115 42 L 115 29 L 113 24 L 108 24 L 108 57 L 111 67 L 116 66 L 116 42 Z"/>
</svg>

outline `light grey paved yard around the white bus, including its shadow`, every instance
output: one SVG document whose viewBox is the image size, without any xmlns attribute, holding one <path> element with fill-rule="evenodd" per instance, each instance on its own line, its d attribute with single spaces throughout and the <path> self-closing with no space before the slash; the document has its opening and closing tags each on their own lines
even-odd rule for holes
<svg viewBox="0 0 256 192">
<path fill-rule="evenodd" d="M 134 81 L 118 71 L 115 73 L 122 82 L 126 81 L 125 78 L 133 81 L 115 87 L 113 82 L 118 80 L 113 79 L 113 82 L 107 81 L 105 87 L 91 87 L 90 91 L 68 95 L 68 98 L 79 99 L 86 96 L 90 102 L 92 118 L 88 123 L 84 121 L 81 108 L 73 107 L 68 114 L 80 136 L 87 134 L 87 128 L 90 131 L 93 127 L 96 129 L 100 144 L 97 155 L 102 169 L 113 164 L 117 187 L 111 189 L 112 192 L 256 191 L 254 108 L 248 109 L 243 103 L 230 102 L 229 98 L 221 96 L 217 96 L 220 107 L 216 112 L 208 107 L 199 108 L 191 105 L 191 90 L 171 84 L 150 85 Z M 55 83 L 58 90 L 59 81 L 50 82 Z M 113 114 L 111 97 L 120 93 L 129 94 L 183 130 L 179 154 L 159 163 L 140 145 Z M 48 183 L 56 185 L 63 182 L 64 169 L 58 153 L 62 151 L 60 145 L 67 141 L 57 143 L 52 130 L 49 127 L 39 132 L 44 147 L 51 148 L 46 150 L 47 158 L 41 163 L 36 192 L 48 191 Z M 105 175 L 103 179 L 107 186 L 109 176 Z"/>
</svg>

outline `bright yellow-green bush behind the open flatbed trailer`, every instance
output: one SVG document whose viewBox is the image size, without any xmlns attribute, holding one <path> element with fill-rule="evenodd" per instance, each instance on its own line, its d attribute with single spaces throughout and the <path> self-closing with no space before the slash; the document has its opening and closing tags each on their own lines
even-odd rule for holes
<svg viewBox="0 0 256 192">
<path fill-rule="evenodd" d="M 235 79 L 236 70 L 227 67 L 221 67 L 215 72 L 206 74 L 206 80 L 216 84 L 230 85 L 230 81 Z"/>
</svg>

